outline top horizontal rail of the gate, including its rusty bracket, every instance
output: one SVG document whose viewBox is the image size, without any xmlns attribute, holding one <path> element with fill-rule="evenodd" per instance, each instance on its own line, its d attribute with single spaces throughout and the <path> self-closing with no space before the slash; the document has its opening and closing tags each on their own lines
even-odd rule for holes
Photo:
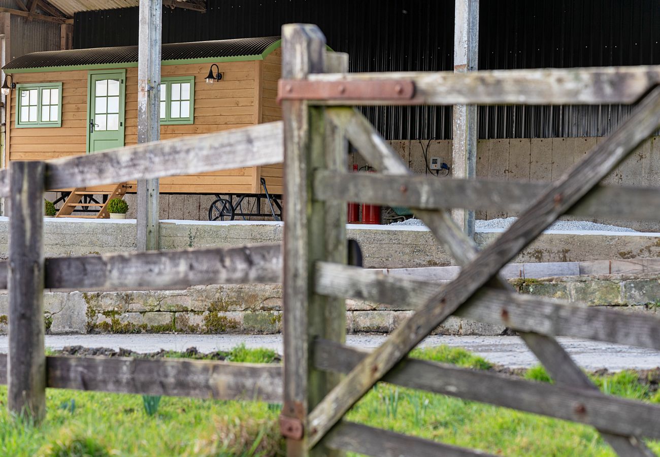
<svg viewBox="0 0 660 457">
<path fill-rule="evenodd" d="M 630 104 L 660 83 L 660 66 L 319 73 L 281 80 L 281 100 L 328 106 Z"/>
</svg>

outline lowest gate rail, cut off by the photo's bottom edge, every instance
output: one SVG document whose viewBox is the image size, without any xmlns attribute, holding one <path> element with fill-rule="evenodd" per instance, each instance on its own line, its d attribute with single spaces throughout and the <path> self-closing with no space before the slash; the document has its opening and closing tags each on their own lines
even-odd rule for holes
<svg viewBox="0 0 660 457">
<path fill-rule="evenodd" d="M 489 456 L 486 452 L 442 444 L 368 425 L 341 421 L 323 444 L 329 448 L 358 452 L 374 457 L 474 457 Z"/>
</svg>

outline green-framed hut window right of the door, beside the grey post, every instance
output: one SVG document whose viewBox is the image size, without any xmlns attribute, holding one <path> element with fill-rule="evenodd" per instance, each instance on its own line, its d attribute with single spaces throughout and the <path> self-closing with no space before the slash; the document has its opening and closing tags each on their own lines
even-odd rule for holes
<svg viewBox="0 0 660 457">
<path fill-rule="evenodd" d="M 195 122 L 195 77 L 167 77 L 160 80 L 160 124 Z"/>
</svg>

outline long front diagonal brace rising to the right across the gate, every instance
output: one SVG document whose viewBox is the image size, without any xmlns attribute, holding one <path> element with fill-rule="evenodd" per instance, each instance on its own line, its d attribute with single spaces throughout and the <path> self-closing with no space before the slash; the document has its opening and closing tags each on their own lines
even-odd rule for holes
<svg viewBox="0 0 660 457">
<path fill-rule="evenodd" d="M 405 320 L 374 353 L 371 353 L 310 413 L 312 443 L 321 439 L 375 382 L 392 369 L 434 328 L 451 316 L 500 268 L 565 213 L 603 179 L 660 125 L 660 88 L 640 103 L 611 137 L 554 182 L 548 192 L 513 223 L 498 241 L 487 246 L 475 260 L 461 269 L 425 306 Z M 442 304 L 442 306 L 439 306 Z"/>
</svg>

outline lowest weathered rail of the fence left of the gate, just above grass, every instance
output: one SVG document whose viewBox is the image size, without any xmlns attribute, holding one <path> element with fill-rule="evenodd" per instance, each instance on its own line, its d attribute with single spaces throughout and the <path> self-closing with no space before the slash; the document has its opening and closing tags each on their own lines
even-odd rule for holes
<svg viewBox="0 0 660 457">
<path fill-rule="evenodd" d="M 46 372 L 49 388 L 282 401 L 282 367 L 279 364 L 49 355 Z M 0 354 L 0 384 L 7 384 L 6 354 Z"/>
</svg>

